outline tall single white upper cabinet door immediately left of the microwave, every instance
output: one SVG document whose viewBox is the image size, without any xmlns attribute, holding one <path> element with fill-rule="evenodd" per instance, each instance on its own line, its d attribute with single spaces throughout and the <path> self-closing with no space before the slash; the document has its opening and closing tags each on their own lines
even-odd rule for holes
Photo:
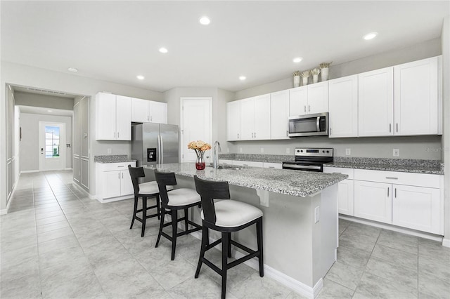
<svg viewBox="0 0 450 299">
<path fill-rule="evenodd" d="M 289 139 L 289 91 L 271 93 L 271 139 Z"/>
</svg>

